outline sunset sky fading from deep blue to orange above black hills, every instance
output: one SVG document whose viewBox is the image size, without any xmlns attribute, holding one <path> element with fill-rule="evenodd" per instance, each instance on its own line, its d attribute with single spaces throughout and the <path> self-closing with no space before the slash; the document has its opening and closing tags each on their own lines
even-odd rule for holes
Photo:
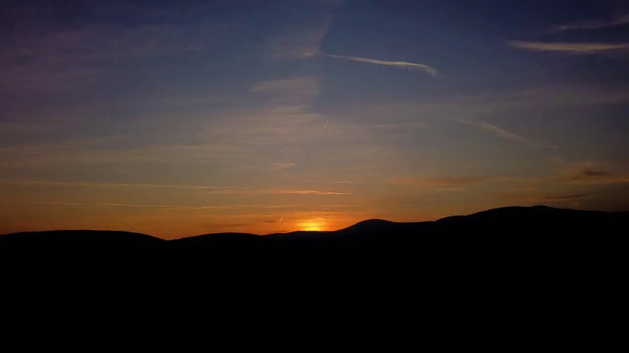
<svg viewBox="0 0 629 353">
<path fill-rule="evenodd" d="M 629 210 L 629 4 L 9 0 L 0 233 Z"/>
</svg>

